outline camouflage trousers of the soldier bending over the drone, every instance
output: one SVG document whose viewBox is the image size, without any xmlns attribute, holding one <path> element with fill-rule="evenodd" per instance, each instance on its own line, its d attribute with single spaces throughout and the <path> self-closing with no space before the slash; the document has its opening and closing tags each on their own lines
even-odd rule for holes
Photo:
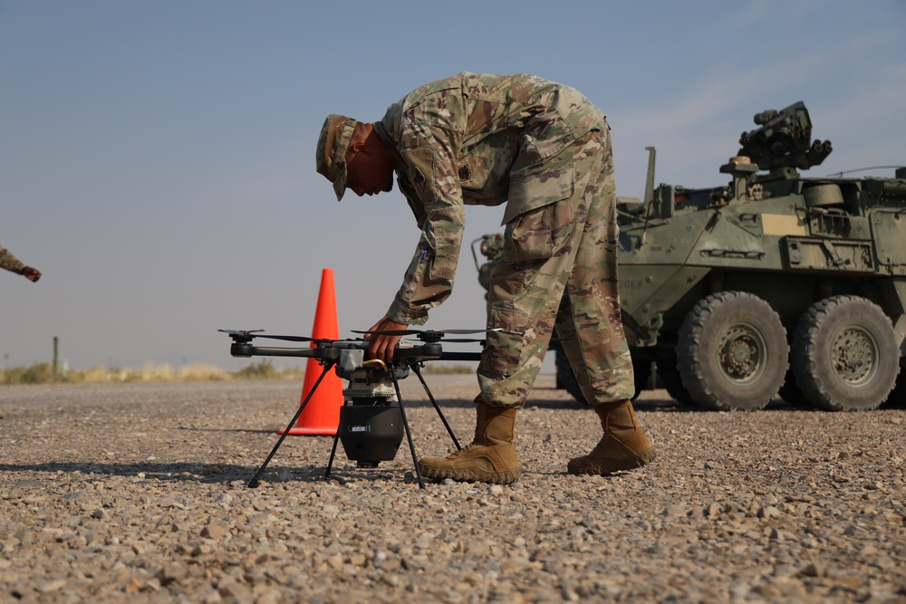
<svg viewBox="0 0 906 604">
<path fill-rule="evenodd" d="M 556 327 L 585 399 L 631 398 L 632 361 L 617 283 L 610 133 L 593 131 L 545 161 L 573 171 L 573 194 L 506 224 L 491 273 L 476 402 L 521 408 Z"/>
</svg>

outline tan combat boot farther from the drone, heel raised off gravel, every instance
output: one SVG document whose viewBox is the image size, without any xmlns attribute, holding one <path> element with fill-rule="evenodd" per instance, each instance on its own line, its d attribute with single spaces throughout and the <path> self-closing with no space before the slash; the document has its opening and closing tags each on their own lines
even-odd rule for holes
<svg viewBox="0 0 906 604">
<path fill-rule="evenodd" d="M 604 436 L 591 453 L 570 460 L 566 467 L 570 474 L 609 475 L 654 461 L 654 447 L 636 423 L 629 400 L 593 408 L 601 417 Z"/>
</svg>

